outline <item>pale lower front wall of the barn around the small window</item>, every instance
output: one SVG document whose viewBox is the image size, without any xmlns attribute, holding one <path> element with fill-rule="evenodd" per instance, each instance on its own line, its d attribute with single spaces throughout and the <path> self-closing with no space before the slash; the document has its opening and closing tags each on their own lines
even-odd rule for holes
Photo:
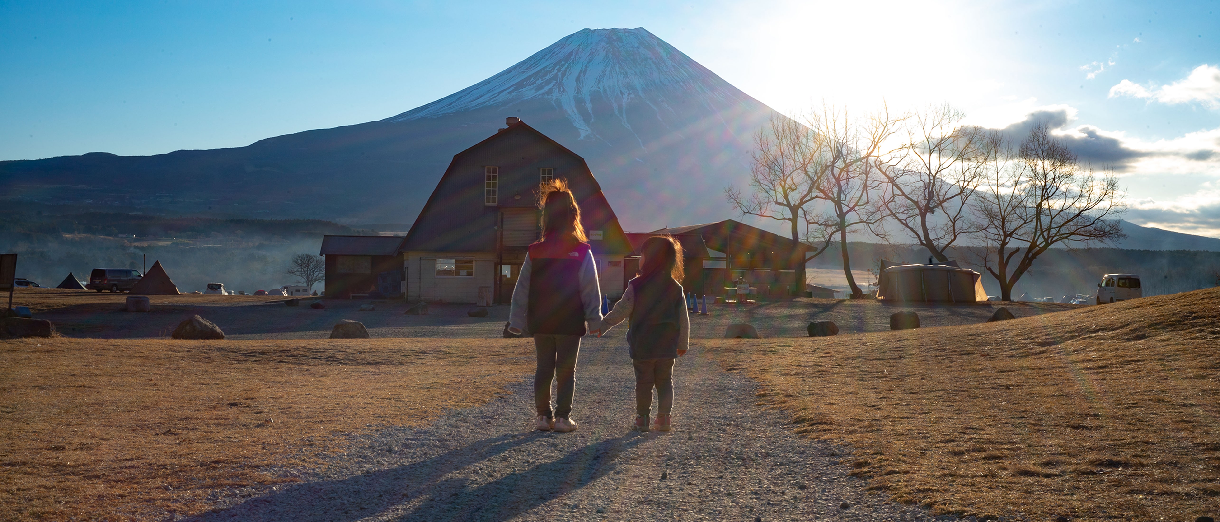
<svg viewBox="0 0 1220 522">
<path fill-rule="evenodd" d="M 495 259 L 487 252 L 406 252 L 406 300 L 476 302 L 478 287 L 495 287 Z M 473 259 L 475 277 L 437 276 L 437 259 Z"/>
</svg>

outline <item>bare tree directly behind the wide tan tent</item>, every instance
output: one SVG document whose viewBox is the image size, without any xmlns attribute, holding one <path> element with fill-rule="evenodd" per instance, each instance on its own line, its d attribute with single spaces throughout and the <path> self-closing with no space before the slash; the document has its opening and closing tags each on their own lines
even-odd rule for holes
<svg viewBox="0 0 1220 522">
<path fill-rule="evenodd" d="M 878 207 L 886 220 L 871 232 L 892 243 L 886 223 L 904 239 L 926 248 L 941 262 L 947 250 L 969 234 L 980 232 L 970 212 L 970 198 L 992 160 L 986 133 L 963 126 L 965 117 L 952 107 L 936 106 L 916 112 L 900 130 L 900 149 L 877 159 L 883 183 Z"/>
</svg>

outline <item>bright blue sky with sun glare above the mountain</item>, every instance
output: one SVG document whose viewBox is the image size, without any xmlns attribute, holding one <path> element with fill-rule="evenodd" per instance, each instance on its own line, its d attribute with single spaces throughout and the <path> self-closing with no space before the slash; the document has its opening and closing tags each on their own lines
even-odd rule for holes
<svg viewBox="0 0 1220 522">
<path fill-rule="evenodd" d="M 1220 1 L 0 1 L 0 160 L 381 120 L 582 28 L 644 27 L 772 107 L 949 102 L 1092 144 L 1130 221 L 1220 237 Z"/>
</svg>

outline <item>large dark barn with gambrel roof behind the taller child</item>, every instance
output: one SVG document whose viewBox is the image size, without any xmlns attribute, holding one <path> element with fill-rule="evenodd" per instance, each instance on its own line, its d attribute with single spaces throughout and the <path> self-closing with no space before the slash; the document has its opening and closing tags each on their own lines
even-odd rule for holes
<svg viewBox="0 0 1220 522">
<path fill-rule="evenodd" d="M 458 152 L 398 248 L 407 300 L 508 304 L 538 240 L 539 184 L 566 179 L 604 295 L 621 295 L 632 249 L 584 159 L 518 118 Z"/>
</svg>

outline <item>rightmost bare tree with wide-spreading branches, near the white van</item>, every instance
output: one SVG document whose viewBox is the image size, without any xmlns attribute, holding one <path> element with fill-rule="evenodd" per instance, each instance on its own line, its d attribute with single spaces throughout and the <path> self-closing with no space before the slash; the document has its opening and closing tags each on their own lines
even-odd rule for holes
<svg viewBox="0 0 1220 522">
<path fill-rule="evenodd" d="M 1013 287 L 1052 246 L 1125 237 L 1115 218 L 1126 210 L 1118 178 L 1082 167 L 1046 126 L 1031 129 L 1015 155 L 996 134 L 988 144 L 996 161 L 974 206 L 987 241 L 983 265 L 999 282 L 1000 299 L 1013 300 Z"/>
</svg>

